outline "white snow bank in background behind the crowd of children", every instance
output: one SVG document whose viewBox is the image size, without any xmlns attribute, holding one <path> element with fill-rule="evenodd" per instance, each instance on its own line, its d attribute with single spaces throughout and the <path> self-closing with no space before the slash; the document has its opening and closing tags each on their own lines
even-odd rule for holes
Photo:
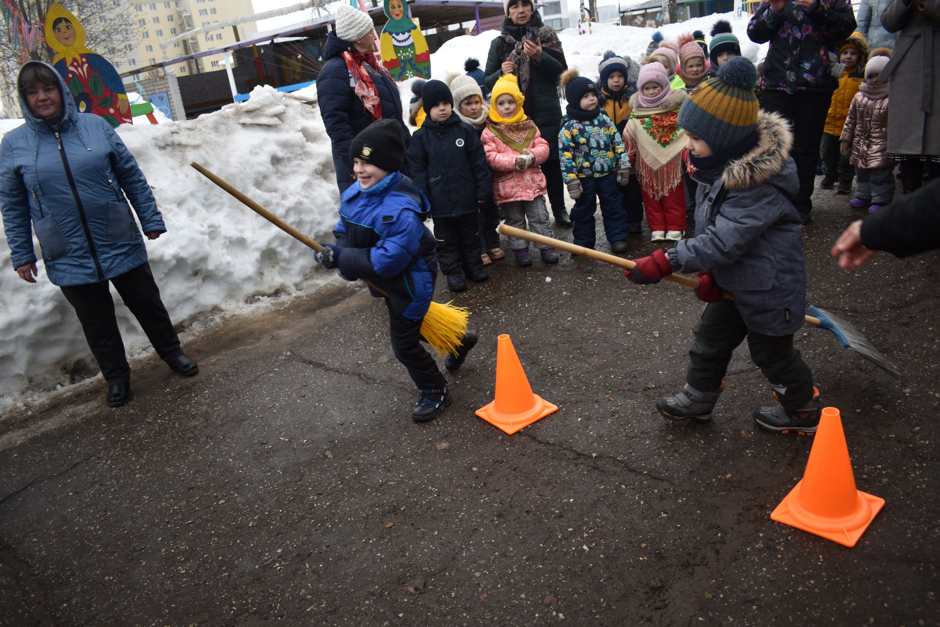
<svg viewBox="0 0 940 627">
<path fill-rule="evenodd" d="M 647 46 L 654 32 L 661 31 L 666 41 L 675 41 L 683 33 L 692 33 L 700 30 L 711 39 L 708 34 L 712 24 L 717 20 L 728 20 L 731 30 L 741 41 L 741 53 L 751 61 L 757 63 L 767 54 L 767 44 L 758 45 L 747 39 L 747 22 L 750 16 L 738 16 L 736 11 L 729 13 L 715 13 L 700 18 L 692 18 L 679 24 L 666 24 L 660 28 L 647 28 L 639 26 L 619 26 L 617 24 L 591 24 L 591 33 L 579 35 L 577 28 L 566 28 L 558 31 L 558 39 L 565 51 L 565 59 L 569 68 L 576 68 L 582 76 L 597 78 L 597 66 L 603 58 L 603 53 L 613 50 L 618 55 L 628 55 L 637 63 L 646 56 Z M 464 35 L 447 40 L 441 48 L 431 55 L 431 78 L 446 81 L 447 74 L 451 72 L 463 73 L 463 61 L 468 56 L 479 59 L 480 68 L 486 67 L 486 56 L 490 53 L 490 43 L 499 37 L 499 31 L 488 30 L 476 36 Z M 412 98 L 411 84 L 414 79 L 401 84 L 401 102 L 404 110 L 408 110 L 408 102 Z"/>
</svg>

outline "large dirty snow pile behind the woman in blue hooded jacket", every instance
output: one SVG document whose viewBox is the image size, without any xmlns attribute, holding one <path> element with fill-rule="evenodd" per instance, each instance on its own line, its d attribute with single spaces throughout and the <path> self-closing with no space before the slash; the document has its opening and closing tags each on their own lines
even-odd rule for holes
<svg viewBox="0 0 940 627">
<path fill-rule="evenodd" d="M 147 247 L 175 323 L 209 321 L 271 300 L 259 297 L 337 280 L 313 273 L 304 244 L 189 166 L 196 161 L 209 168 L 311 237 L 329 231 L 339 196 L 330 141 L 316 106 L 256 87 L 247 102 L 195 120 L 125 125 L 118 133 L 164 215 L 167 232 Z M 0 410 L 71 383 L 69 373 L 78 360 L 94 366 L 81 326 L 61 291 L 49 283 L 41 260 L 39 282 L 29 285 L 12 272 L 9 259 L 6 236 L 0 234 Z M 130 353 L 149 348 L 123 306 L 118 323 Z"/>
</svg>

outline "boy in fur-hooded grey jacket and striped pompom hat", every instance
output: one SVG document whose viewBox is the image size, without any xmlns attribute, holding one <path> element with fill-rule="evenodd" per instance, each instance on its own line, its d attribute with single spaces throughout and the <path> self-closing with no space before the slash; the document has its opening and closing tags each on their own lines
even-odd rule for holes
<svg viewBox="0 0 940 627">
<path fill-rule="evenodd" d="M 682 103 L 679 124 L 689 134 L 690 174 L 698 183 L 697 236 L 668 253 L 635 259 L 636 268 L 625 274 L 635 283 L 656 283 L 674 272 L 697 272 L 698 298 L 708 303 L 694 329 L 686 383 L 676 396 L 656 401 L 661 414 L 710 420 L 731 353 L 746 337 L 779 401 L 755 411 L 758 425 L 812 433 L 823 405 L 793 346 L 804 323 L 806 268 L 791 202 L 799 187 L 792 136 L 783 118 L 758 112 L 756 80 L 751 62 L 735 57 Z"/>
</svg>

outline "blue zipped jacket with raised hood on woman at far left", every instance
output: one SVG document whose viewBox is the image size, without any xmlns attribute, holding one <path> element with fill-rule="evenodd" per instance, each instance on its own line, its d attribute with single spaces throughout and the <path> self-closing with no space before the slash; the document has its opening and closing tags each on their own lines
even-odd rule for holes
<svg viewBox="0 0 940 627">
<path fill-rule="evenodd" d="M 0 146 L 7 243 L 14 268 L 35 262 L 32 223 L 50 281 L 97 283 L 147 260 L 125 195 L 144 232 L 166 227 L 144 173 L 118 133 L 103 118 L 78 113 L 61 75 L 46 67 L 58 77 L 65 115 L 56 122 L 36 118 L 20 95 L 25 123 L 7 133 Z"/>
</svg>

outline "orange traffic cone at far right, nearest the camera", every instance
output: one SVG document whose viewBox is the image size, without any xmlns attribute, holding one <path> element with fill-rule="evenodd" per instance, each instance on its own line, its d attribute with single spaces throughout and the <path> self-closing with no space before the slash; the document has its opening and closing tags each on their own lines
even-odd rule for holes
<svg viewBox="0 0 940 627">
<path fill-rule="evenodd" d="M 807 472 L 770 517 L 846 546 L 854 546 L 885 499 L 855 490 L 849 448 L 835 407 L 823 408 Z"/>
</svg>

